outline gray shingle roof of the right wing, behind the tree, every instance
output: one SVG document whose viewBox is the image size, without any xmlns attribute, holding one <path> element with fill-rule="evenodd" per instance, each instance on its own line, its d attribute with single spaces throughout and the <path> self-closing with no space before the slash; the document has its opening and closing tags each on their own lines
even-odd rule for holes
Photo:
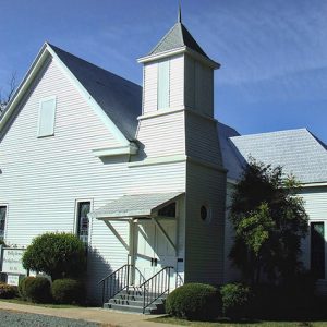
<svg viewBox="0 0 327 327">
<path fill-rule="evenodd" d="M 233 136 L 235 156 L 282 166 L 302 183 L 327 182 L 326 145 L 306 129 Z M 233 167 L 227 167 L 227 169 Z"/>
</svg>

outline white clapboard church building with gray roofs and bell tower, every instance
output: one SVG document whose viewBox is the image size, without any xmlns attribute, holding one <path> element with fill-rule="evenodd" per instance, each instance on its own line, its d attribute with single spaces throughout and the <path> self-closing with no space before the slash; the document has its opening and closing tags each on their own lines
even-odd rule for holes
<svg viewBox="0 0 327 327">
<path fill-rule="evenodd" d="M 240 136 L 218 123 L 219 63 L 180 17 L 138 62 L 143 87 L 43 46 L 0 120 L 5 244 L 73 232 L 89 249 L 90 301 L 134 286 L 147 292 L 143 312 L 154 311 L 157 295 L 184 282 L 238 278 L 227 208 L 249 155 L 300 179 L 311 234 L 326 239 L 323 142 L 305 129 Z M 314 240 L 304 240 L 303 262 L 319 269 L 324 287 L 326 245 Z"/>
</svg>

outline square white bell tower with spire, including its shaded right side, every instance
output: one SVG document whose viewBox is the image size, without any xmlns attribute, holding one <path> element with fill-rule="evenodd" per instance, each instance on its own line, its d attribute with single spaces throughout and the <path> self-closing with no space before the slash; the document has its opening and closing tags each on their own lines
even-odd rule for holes
<svg viewBox="0 0 327 327">
<path fill-rule="evenodd" d="M 211 60 L 178 21 L 143 63 L 143 112 L 137 160 L 161 166 L 184 162 L 185 282 L 219 284 L 223 275 L 226 170 L 214 118 Z"/>
</svg>

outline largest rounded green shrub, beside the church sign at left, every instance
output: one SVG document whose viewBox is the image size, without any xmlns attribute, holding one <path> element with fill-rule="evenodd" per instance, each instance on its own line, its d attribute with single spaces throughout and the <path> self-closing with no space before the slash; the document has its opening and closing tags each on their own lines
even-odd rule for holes
<svg viewBox="0 0 327 327">
<path fill-rule="evenodd" d="M 46 272 L 52 280 L 78 277 L 85 271 L 83 242 L 71 233 L 45 233 L 36 237 L 23 255 L 25 269 Z"/>
</svg>

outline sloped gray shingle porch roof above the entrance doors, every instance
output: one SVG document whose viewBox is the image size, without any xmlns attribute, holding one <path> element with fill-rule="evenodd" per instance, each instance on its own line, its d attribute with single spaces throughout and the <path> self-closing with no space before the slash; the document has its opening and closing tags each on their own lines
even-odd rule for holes
<svg viewBox="0 0 327 327">
<path fill-rule="evenodd" d="M 183 192 L 123 195 L 90 213 L 101 220 L 110 218 L 150 217 L 155 211 L 180 197 Z"/>
</svg>

